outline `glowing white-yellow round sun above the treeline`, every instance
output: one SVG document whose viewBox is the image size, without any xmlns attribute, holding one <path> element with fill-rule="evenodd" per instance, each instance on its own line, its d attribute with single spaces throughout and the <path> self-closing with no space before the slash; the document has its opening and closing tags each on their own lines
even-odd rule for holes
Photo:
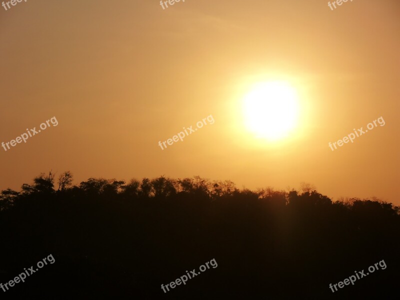
<svg viewBox="0 0 400 300">
<path fill-rule="evenodd" d="M 296 127 L 298 98 L 286 81 L 258 83 L 243 99 L 244 122 L 257 137 L 277 140 Z"/>
</svg>

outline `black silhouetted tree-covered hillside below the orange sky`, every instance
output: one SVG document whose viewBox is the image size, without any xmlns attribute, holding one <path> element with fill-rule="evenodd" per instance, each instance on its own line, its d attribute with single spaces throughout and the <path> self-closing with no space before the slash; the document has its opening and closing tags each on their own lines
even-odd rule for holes
<svg viewBox="0 0 400 300">
<path fill-rule="evenodd" d="M 0 282 L 50 253 L 3 298 L 397 298 L 398 207 L 301 192 L 237 189 L 198 176 L 140 181 L 40 174 L 0 195 Z M 186 270 L 218 266 L 176 286 Z M 355 270 L 377 270 L 332 293 Z"/>
</svg>

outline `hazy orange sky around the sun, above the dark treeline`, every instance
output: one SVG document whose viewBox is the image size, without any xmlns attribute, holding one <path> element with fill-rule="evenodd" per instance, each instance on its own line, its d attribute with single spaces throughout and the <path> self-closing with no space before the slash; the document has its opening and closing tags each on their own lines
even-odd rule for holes
<svg viewBox="0 0 400 300">
<path fill-rule="evenodd" d="M 337 5 L 336 5 L 337 6 Z M 40 172 L 229 179 L 333 199 L 400 205 L 400 2 L 353 0 L 27 0 L 0 6 L 0 189 Z M 259 82 L 296 91 L 295 128 L 278 140 L 245 126 Z M 214 122 L 158 141 L 211 115 Z M 328 146 L 378 125 L 333 151 Z"/>
</svg>

